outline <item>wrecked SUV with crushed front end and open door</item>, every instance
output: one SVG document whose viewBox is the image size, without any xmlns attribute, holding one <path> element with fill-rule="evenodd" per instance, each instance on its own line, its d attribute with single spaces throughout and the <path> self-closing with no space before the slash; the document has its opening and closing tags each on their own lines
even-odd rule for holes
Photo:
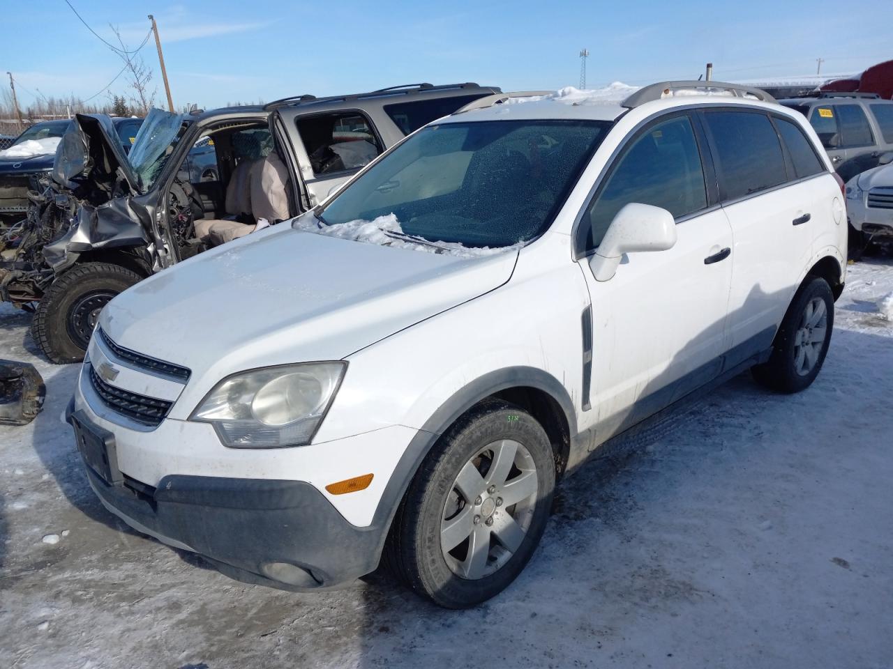
<svg viewBox="0 0 893 669">
<path fill-rule="evenodd" d="M 63 137 L 53 187 L 36 199 L 13 242 L 0 245 L 0 297 L 35 310 L 32 334 L 47 358 L 79 361 L 114 295 L 203 251 L 211 224 L 241 216 L 225 227 L 238 228 L 233 235 L 254 229 L 258 207 L 230 211 L 232 202 L 249 200 L 241 194 L 246 179 L 233 178 L 248 158 L 238 145 L 266 145 L 264 165 L 255 167 L 287 177 L 280 193 L 260 195 L 276 195 L 281 206 L 255 197 L 264 212 L 279 211 L 275 219 L 264 214 L 275 224 L 316 206 L 416 128 L 498 92 L 420 84 L 190 114 L 156 109 L 128 156 L 107 117 L 78 114 Z"/>
</svg>

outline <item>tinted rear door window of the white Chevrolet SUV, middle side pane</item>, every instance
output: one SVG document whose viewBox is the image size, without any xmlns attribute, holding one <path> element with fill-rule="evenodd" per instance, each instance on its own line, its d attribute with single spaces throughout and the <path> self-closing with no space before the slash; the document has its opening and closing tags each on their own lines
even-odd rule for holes
<svg viewBox="0 0 893 669">
<path fill-rule="evenodd" d="M 787 180 L 779 137 L 756 111 L 706 111 L 716 147 L 724 200 L 736 200 Z"/>
</svg>

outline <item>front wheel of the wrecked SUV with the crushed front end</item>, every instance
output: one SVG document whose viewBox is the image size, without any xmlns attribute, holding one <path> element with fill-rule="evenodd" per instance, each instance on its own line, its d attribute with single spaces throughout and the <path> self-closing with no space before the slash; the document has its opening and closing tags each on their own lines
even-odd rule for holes
<svg viewBox="0 0 893 669">
<path fill-rule="evenodd" d="M 31 321 L 31 335 L 50 362 L 84 359 L 99 311 L 118 293 L 140 281 L 129 269 L 85 262 L 56 277 Z"/>
</svg>

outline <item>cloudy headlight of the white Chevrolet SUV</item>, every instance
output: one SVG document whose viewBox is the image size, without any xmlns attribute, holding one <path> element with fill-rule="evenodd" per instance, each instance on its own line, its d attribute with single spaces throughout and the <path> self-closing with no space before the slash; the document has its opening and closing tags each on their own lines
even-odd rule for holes
<svg viewBox="0 0 893 669">
<path fill-rule="evenodd" d="M 190 420 L 211 423 L 227 446 L 304 446 L 329 410 L 346 362 L 309 362 L 227 376 Z"/>
</svg>

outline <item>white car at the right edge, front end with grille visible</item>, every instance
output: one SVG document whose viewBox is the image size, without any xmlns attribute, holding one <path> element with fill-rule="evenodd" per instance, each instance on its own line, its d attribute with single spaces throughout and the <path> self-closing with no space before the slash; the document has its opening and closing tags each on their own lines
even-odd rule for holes
<svg viewBox="0 0 893 669">
<path fill-rule="evenodd" d="M 861 248 L 872 241 L 893 241 L 893 153 L 884 153 L 880 167 L 847 182 L 847 218 Z M 859 238 L 861 237 L 861 238 Z"/>
</svg>

